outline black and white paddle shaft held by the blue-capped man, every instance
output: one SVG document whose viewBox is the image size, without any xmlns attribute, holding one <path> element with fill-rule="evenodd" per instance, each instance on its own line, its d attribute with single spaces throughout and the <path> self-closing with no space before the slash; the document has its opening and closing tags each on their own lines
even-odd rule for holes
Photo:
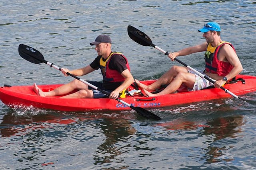
<svg viewBox="0 0 256 170">
<path fill-rule="evenodd" d="M 154 47 L 155 49 L 161 51 L 162 53 L 164 53 L 165 55 L 169 55 L 168 51 L 164 51 L 163 49 L 161 49 L 160 47 L 154 45 L 153 43 L 150 43 L 150 45 L 152 47 Z M 205 78 L 206 80 L 208 80 L 211 83 L 215 83 L 212 79 L 210 79 L 209 77 L 205 76 L 204 74 L 198 72 L 197 70 L 195 70 L 194 68 L 190 67 L 188 64 L 183 63 L 182 61 L 180 61 L 179 59 L 175 58 L 174 60 L 178 61 L 180 64 L 188 67 L 190 70 L 196 72 L 200 77 Z M 228 89 L 224 88 L 223 86 L 220 87 L 222 90 L 224 90 L 226 93 L 230 94 L 231 96 L 233 96 L 234 98 L 238 98 L 241 100 L 244 100 L 243 98 L 236 96 L 234 93 L 230 92 Z M 245 100 L 244 100 L 245 101 Z"/>
</svg>

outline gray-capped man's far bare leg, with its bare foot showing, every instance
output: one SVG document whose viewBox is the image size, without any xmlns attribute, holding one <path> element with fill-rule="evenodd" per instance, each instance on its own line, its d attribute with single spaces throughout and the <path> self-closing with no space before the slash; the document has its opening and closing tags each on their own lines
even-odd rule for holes
<svg viewBox="0 0 256 170">
<path fill-rule="evenodd" d="M 40 88 L 38 88 L 36 83 L 34 84 L 34 88 L 33 88 L 36 94 L 42 97 L 60 96 L 60 95 L 68 94 L 69 92 L 72 92 L 75 89 L 78 89 L 78 90 L 88 89 L 88 86 L 83 82 L 80 82 L 79 80 L 74 79 L 68 84 L 64 84 L 49 92 L 43 92 Z"/>
</svg>

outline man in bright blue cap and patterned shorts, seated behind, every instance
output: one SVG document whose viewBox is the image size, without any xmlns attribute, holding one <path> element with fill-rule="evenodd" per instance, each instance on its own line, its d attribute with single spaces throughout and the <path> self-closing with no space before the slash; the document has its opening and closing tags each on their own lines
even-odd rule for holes
<svg viewBox="0 0 256 170">
<path fill-rule="evenodd" d="M 172 66 L 168 72 L 148 86 L 135 80 L 148 96 L 174 93 L 182 84 L 185 84 L 188 90 L 191 91 L 200 90 L 212 85 L 220 88 L 243 70 L 233 45 L 220 39 L 221 28 L 218 23 L 208 22 L 198 31 L 203 33 L 203 37 L 206 39 L 205 43 L 170 53 L 168 57 L 174 61 L 175 57 L 178 56 L 205 51 L 204 58 L 206 64 L 202 74 L 216 80 L 216 82 L 212 84 L 192 70 L 189 70 L 188 67 Z M 159 89 L 162 85 L 167 86 L 161 92 L 155 94 L 149 92 Z"/>
</svg>

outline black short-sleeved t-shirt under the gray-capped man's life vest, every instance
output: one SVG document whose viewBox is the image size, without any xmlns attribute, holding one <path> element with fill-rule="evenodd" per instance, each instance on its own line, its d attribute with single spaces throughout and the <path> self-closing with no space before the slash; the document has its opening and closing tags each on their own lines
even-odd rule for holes
<svg viewBox="0 0 256 170">
<path fill-rule="evenodd" d="M 92 61 L 90 66 L 93 69 L 98 70 L 100 68 L 100 59 L 101 58 L 102 58 L 102 56 L 96 57 L 94 59 L 94 61 Z M 111 57 L 108 66 L 109 66 L 110 69 L 117 70 L 119 73 L 121 73 L 121 72 L 123 72 L 124 70 L 127 69 L 126 60 L 124 59 L 124 57 L 122 57 L 121 55 L 118 55 L 118 54 L 114 54 Z M 123 82 L 107 82 L 107 81 L 103 81 L 103 88 L 107 89 L 107 90 L 115 90 L 122 83 Z"/>
</svg>

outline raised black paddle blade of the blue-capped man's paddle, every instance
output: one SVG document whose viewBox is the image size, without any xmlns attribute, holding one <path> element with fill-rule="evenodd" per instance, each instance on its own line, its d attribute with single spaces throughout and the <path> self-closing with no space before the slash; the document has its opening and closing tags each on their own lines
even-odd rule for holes
<svg viewBox="0 0 256 170">
<path fill-rule="evenodd" d="M 138 30 L 137 28 L 135 28 L 131 25 L 128 25 L 127 31 L 128 31 L 129 37 L 136 43 L 143 45 L 143 46 L 152 45 L 154 47 L 151 39 L 144 32 Z"/>
</svg>

